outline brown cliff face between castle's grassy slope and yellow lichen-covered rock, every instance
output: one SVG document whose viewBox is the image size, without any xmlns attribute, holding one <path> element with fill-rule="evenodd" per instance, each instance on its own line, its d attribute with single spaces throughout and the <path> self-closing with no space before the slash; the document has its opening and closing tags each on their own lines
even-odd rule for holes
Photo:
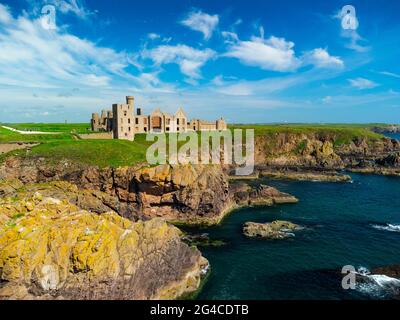
<svg viewBox="0 0 400 320">
<path fill-rule="evenodd" d="M 122 167 L 99 169 L 92 166 L 9 158 L 0 168 L 0 179 L 23 183 L 69 181 L 106 208 L 131 220 L 163 217 L 185 223 L 217 223 L 233 200 L 220 166 Z M 80 199 L 84 194 L 80 195 Z M 99 205 L 85 207 L 104 211 Z"/>
</svg>

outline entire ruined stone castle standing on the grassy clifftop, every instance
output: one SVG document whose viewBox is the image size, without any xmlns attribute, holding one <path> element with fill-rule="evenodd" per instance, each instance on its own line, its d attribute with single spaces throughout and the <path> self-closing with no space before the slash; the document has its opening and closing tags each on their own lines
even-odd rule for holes
<svg viewBox="0 0 400 320">
<path fill-rule="evenodd" d="M 135 133 L 188 132 L 203 130 L 226 130 L 223 118 L 216 121 L 205 121 L 188 118 L 182 108 L 174 115 L 154 110 L 150 115 L 142 114 L 142 109 L 135 112 L 134 97 L 126 97 L 126 103 L 113 104 L 112 110 L 103 110 L 101 116 L 92 114 L 92 131 L 112 132 L 114 139 L 133 140 Z"/>
</svg>

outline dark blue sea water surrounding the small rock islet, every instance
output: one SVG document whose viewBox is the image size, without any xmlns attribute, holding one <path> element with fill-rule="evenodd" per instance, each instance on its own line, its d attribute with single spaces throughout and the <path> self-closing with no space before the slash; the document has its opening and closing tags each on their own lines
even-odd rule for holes
<svg viewBox="0 0 400 320">
<path fill-rule="evenodd" d="M 353 179 L 354 183 L 263 181 L 300 202 L 241 209 L 220 226 L 201 230 L 227 245 L 200 248 L 212 272 L 199 298 L 373 298 L 343 290 L 340 270 L 344 265 L 372 268 L 400 263 L 400 232 L 373 227 L 400 224 L 400 179 L 374 175 L 353 175 Z M 307 229 L 289 240 L 242 235 L 246 221 L 276 219 Z"/>
</svg>

